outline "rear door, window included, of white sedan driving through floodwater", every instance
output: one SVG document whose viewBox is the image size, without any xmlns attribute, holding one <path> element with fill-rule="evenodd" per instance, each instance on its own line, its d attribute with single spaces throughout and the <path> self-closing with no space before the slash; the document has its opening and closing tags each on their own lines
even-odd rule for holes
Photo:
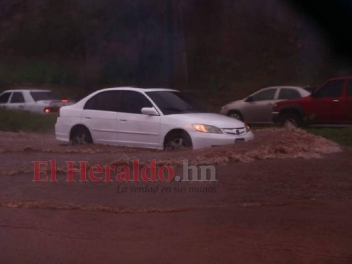
<svg viewBox="0 0 352 264">
<path fill-rule="evenodd" d="M 86 125 L 94 143 L 118 144 L 117 121 L 122 91 L 103 91 L 84 105 L 81 121 Z"/>
</svg>

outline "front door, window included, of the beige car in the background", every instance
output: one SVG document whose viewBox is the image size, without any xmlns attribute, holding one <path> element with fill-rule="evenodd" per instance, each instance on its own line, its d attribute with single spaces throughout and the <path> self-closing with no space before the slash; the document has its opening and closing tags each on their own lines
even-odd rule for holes
<svg viewBox="0 0 352 264">
<path fill-rule="evenodd" d="M 277 98 L 277 89 L 265 89 L 245 101 L 243 114 L 248 123 L 271 123 L 272 106 Z"/>
</svg>

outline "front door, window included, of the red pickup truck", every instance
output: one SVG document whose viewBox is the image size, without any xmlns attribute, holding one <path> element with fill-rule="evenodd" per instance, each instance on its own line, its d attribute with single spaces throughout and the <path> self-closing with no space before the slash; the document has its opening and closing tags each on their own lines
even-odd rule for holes
<svg viewBox="0 0 352 264">
<path fill-rule="evenodd" d="M 323 84 L 313 95 L 312 111 L 315 123 L 344 123 L 346 101 L 342 93 L 345 80 L 331 80 Z"/>
</svg>

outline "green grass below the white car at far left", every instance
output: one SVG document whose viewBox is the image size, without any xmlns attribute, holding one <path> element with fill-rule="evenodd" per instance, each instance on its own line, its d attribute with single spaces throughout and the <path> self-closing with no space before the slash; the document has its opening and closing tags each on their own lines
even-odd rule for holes
<svg viewBox="0 0 352 264">
<path fill-rule="evenodd" d="M 46 132 L 55 127 L 56 115 L 0 108 L 0 130 Z"/>
</svg>

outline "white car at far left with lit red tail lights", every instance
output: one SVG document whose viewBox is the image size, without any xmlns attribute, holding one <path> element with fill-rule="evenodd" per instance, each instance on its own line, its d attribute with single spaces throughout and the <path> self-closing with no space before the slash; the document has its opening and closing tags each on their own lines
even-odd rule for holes
<svg viewBox="0 0 352 264">
<path fill-rule="evenodd" d="M 6 90 L 0 94 L 0 107 L 42 114 L 57 112 L 60 107 L 70 104 L 74 102 L 60 100 L 50 90 L 16 89 Z"/>
</svg>

